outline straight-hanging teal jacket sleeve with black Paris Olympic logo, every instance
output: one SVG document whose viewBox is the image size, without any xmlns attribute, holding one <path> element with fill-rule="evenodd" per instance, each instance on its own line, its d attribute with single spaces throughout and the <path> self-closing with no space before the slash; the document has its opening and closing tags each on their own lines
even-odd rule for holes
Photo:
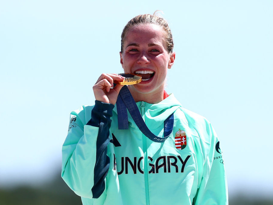
<svg viewBox="0 0 273 205">
<path fill-rule="evenodd" d="M 227 178 L 220 143 L 210 123 L 207 125 L 207 131 L 211 143 L 203 167 L 201 184 L 193 204 L 226 205 L 228 204 Z"/>
</svg>

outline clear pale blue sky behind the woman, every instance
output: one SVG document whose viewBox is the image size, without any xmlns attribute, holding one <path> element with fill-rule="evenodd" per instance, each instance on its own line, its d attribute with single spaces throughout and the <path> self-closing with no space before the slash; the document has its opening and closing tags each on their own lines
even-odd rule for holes
<svg viewBox="0 0 273 205">
<path fill-rule="evenodd" d="M 46 181 L 61 166 L 69 113 L 121 73 L 122 28 L 162 10 L 176 60 L 168 93 L 213 124 L 229 191 L 273 190 L 273 1 L 1 1 L 0 184 Z"/>
</svg>

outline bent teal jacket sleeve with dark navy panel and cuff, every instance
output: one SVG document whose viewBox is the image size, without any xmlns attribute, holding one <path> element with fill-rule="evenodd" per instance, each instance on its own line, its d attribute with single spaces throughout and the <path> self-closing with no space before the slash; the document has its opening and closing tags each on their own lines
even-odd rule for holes
<svg viewBox="0 0 273 205">
<path fill-rule="evenodd" d="M 113 108 L 112 104 L 95 101 L 86 125 L 81 114 L 84 111 L 71 112 L 68 135 L 62 146 L 62 178 L 81 197 L 98 198 L 105 190 Z"/>
</svg>

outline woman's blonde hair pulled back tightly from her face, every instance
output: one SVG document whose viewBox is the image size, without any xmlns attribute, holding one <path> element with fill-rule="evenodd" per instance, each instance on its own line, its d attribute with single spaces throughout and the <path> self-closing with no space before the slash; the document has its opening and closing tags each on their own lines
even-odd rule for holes
<svg viewBox="0 0 273 205">
<path fill-rule="evenodd" d="M 158 10 L 157 10 L 158 11 Z M 153 15 L 151 14 L 142 14 L 132 18 L 123 28 L 121 34 L 121 52 L 123 52 L 123 44 L 124 38 L 129 28 L 132 28 L 137 25 L 141 24 L 156 24 L 159 25 L 166 34 L 166 44 L 167 44 L 167 51 L 168 53 L 173 52 L 173 35 L 168 25 L 168 22 L 159 16 L 157 16 L 157 11 L 154 12 Z"/>
</svg>

